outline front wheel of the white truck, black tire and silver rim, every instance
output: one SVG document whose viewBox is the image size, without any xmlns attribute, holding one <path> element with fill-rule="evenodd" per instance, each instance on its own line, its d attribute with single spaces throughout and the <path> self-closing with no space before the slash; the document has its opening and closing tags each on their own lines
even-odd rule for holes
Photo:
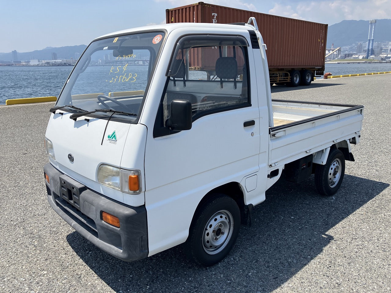
<svg viewBox="0 0 391 293">
<path fill-rule="evenodd" d="M 240 210 L 231 197 L 212 196 L 196 212 L 185 253 L 190 261 L 202 266 L 218 263 L 231 251 L 239 234 Z"/>
</svg>

